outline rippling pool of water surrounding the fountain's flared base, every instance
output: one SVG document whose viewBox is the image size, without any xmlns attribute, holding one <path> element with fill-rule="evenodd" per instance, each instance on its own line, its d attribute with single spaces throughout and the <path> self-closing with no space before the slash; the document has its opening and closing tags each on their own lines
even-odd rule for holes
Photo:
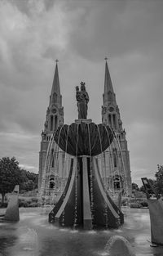
<svg viewBox="0 0 163 256">
<path fill-rule="evenodd" d="M 123 212 L 125 223 L 119 229 L 73 231 L 50 224 L 41 209 L 20 209 L 20 222 L 0 222 L 0 256 L 107 256 L 105 245 L 114 235 L 129 240 L 137 256 L 162 256 L 163 246 L 150 246 L 148 209 Z"/>
</svg>

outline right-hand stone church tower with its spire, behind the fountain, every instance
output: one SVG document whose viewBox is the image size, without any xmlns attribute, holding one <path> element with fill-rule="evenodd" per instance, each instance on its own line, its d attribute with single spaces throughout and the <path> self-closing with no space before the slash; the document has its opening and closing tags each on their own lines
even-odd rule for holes
<svg viewBox="0 0 163 256">
<path fill-rule="evenodd" d="M 102 122 L 108 124 L 115 134 L 114 142 L 104 152 L 108 187 L 113 191 L 126 190 L 131 195 L 130 155 L 126 141 L 126 131 L 122 128 L 121 115 L 117 106 L 116 94 L 105 59 L 104 94 L 102 106 Z M 102 173 L 102 176 L 103 173 Z"/>
</svg>

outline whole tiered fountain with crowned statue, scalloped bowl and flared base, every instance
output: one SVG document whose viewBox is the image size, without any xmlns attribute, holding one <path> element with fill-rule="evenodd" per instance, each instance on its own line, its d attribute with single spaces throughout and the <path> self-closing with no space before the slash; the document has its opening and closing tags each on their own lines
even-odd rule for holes
<svg viewBox="0 0 163 256">
<path fill-rule="evenodd" d="M 49 213 L 49 222 L 61 227 L 115 228 L 124 222 L 123 213 L 114 204 L 100 177 L 96 155 L 112 143 L 114 135 L 104 124 L 87 117 L 89 101 L 85 83 L 76 88 L 78 119 L 64 124 L 54 133 L 55 143 L 72 155 L 68 182 L 58 203 Z"/>
</svg>

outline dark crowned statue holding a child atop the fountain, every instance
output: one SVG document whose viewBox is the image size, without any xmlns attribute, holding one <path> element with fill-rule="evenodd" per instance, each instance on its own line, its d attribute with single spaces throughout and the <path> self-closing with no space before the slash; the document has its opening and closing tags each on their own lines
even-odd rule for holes
<svg viewBox="0 0 163 256">
<path fill-rule="evenodd" d="M 86 119 L 87 110 L 88 110 L 88 101 L 89 96 L 88 92 L 86 92 L 85 83 L 81 82 L 81 91 L 79 91 L 79 87 L 76 86 L 76 99 L 77 99 L 77 110 L 78 110 L 78 119 Z"/>
</svg>

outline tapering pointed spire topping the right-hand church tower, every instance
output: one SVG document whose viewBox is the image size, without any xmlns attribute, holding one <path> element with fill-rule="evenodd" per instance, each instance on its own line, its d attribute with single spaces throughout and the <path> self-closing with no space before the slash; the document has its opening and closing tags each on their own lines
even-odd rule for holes
<svg viewBox="0 0 163 256">
<path fill-rule="evenodd" d="M 104 106 L 108 105 L 108 103 L 116 103 L 116 96 L 112 88 L 112 80 L 110 77 L 110 73 L 108 70 L 108 58 L 105 58 L 105 78 L 104 78 L 104 94 L 103 94 L 103 101 L 104 101 Z"/>
</svg>

